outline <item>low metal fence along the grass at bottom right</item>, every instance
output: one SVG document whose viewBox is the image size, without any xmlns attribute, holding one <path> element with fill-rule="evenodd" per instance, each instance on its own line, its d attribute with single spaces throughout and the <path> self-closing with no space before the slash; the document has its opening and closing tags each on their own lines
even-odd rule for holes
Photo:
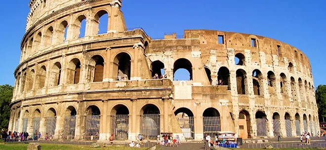
<svg viewBox="0 0 326 150">
<path fill-rule="evenodd" d="M 326 143 L 312 143 L 311 145 L 301 145 L 301 144 L 279 144 L 279 143 L 270 143 L 270 144 L 248 144 L 242 146 L 241 148 L 248 149 L 265 149 L 266 146 L 271 145 L 274 149 L 318 149 L 318 148 L 326 148 Z"/>
</svg>

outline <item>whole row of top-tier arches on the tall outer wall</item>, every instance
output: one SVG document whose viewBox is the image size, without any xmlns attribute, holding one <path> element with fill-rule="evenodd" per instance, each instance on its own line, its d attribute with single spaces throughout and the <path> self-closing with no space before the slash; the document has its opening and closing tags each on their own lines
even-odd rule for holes
<svg viewBox="0 0 326 150">
<path fill-rule="evenodd" d="M 59 24 L 50 24 L 45 30 L 40 29 L 31 35 L 24 44 L 24 54 L 30 55 L 50 45 L 62 43 L 66 40 L 76 40 L 85 35 L 103 34 L 108 31 L 109 15 L 105 9 L 99 10 L 87 18 L 81 14 L 73 20 L 62 20 Z M 96 33 L 94 33 L 96 31 Z M 22 54 L 23 55 L 23 54 Z"/>
</svg>

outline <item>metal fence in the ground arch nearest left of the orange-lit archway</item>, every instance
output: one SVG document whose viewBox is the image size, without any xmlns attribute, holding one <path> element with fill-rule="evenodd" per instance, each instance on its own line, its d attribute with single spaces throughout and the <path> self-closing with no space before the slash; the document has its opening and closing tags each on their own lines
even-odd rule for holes
<svg viewBox="0 0 326 150">
<path fill-rule="evenodd" d="M 221 131 L 220 117 L 203 117 L 204 135 L 215 137 L 216 132 Z"/>
</svg>

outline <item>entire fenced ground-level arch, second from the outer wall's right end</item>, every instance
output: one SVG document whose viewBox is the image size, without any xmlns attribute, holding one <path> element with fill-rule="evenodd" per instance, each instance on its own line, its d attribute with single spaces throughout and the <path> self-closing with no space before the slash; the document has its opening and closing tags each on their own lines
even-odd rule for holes
<svg viewBox="0 0 326 150">
<path fill-rule="evenodd" d="M 129 127 L 129 110 L 123 104 L 118 104 L 111 110 L 111 133 L 113 133 L 116 140 L 128 139 Z"/>
</svg>

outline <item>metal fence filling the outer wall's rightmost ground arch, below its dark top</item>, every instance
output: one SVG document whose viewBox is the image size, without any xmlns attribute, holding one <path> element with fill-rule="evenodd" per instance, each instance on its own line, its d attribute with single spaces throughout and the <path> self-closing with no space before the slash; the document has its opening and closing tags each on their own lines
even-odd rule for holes
<svg viewBox="0 0 326 150">
<path fill-rule="evenodd" d="M 156 139 L 160 135 L 160 114 L 142 115 L 141 131 L 144 139 Z"/>
</svg>

